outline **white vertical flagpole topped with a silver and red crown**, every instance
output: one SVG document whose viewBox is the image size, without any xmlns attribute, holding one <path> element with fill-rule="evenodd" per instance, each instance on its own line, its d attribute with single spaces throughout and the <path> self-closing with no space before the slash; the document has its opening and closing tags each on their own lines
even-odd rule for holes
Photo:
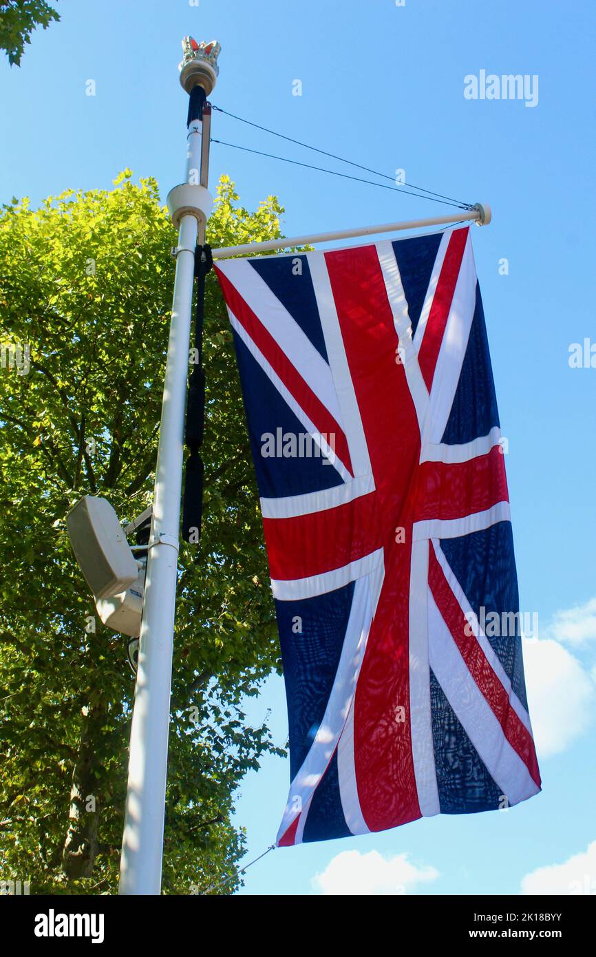
<svg viewBox="0 0 596 957">
<path fill-rule="evenodd" d="M 219 45 L 183 40 L 180 81 L 188 94 L 202 87 L 202 101 L 217 78 Z M 208 134 L 209 137 L 209 134 Z M 206 153 L 209 153 L 206 144 Z M 207 169 L 201 175 L 201 112 L 188 124 L 186 183 L 172 189 L 167 205 L 179 228 L 166 381 L 148 543 L 139 668 L 130 729 L 128 787 L 122 836 L 120 894 L 160 894 L 166 807 L 167 735 L 171 690 L 188 345 L 197 234 L 205 235 L 212 201 Z M 205 180 L 205 182 L 203 182 Z"/>
</svg>

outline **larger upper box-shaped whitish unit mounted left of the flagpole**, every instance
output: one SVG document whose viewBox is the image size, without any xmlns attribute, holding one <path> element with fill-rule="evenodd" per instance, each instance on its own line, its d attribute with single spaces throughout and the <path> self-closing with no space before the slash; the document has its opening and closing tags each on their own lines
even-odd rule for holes
<svg viewBox="0 0 596 957">
<path fill-rule="evenodd" d="M 78 567 L 96 599 L 126 591 L 139 567 L 118 516 L 107 499 L 86 495 L 66 517 Z"/>
</svg>

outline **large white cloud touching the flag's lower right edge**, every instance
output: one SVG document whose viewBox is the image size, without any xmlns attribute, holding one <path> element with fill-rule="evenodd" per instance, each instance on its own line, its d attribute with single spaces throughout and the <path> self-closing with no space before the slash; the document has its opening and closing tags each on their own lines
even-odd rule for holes
<svg viewBox="0 0 596 957">
<path fill-rule="evenodd" d="M 560 754 L 592 721 L 594 684 L 552 638 L 525 638 L 523 661 L 537 751 L 543 758 Z"/>
</svg>

